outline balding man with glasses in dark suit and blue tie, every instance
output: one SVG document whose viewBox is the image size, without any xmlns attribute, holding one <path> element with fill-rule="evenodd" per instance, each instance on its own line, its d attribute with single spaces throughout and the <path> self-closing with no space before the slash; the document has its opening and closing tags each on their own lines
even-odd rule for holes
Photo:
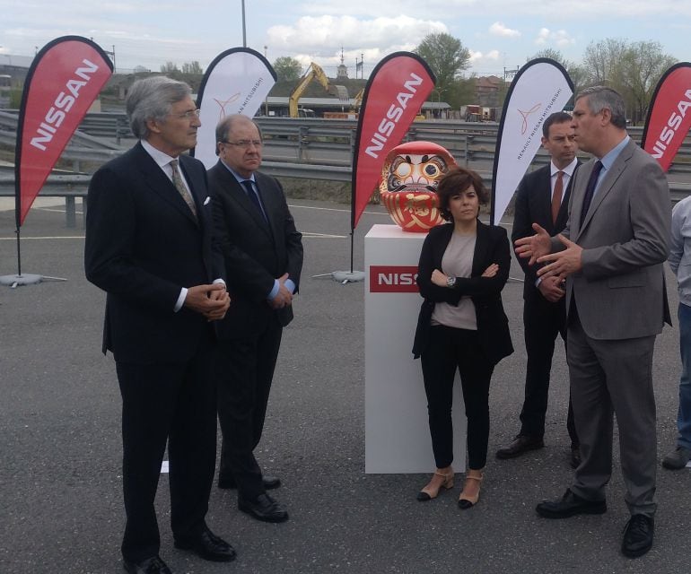
<svg viewBox="0 0 691 574">
<path fill-rule="evenodd" d="M 223 251 L 232 305 L 219 325 L 218 417 L 223 432 L 218 485 L 238 489 L 238 507 L 258 520 L 288 513 L 267 494 L 276 477 L 262 475 L 254 449 L 264 428 L 283 327 L 302 270 L 302 234 L 284 191 L 258 171 L 261 135 L 248 117 L 216 127 L 218 163 L 208 171 L 214 193 L 214 241 Z"/>
</svg>

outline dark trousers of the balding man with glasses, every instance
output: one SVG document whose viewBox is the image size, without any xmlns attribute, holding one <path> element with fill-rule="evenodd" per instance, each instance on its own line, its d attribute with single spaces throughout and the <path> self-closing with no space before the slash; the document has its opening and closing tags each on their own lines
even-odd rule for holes
<svg viewBox="0 0 691 574">
<path fill-rule="evenodd" d="M 254 457 L 281 346 L 283 327 L 272 318 L 257 336 L 220 344 L 218 420 L 223 442 L 219 479 L 234 478 L 241 498 L 254 500 L 265 492 Z"/>
</svg>

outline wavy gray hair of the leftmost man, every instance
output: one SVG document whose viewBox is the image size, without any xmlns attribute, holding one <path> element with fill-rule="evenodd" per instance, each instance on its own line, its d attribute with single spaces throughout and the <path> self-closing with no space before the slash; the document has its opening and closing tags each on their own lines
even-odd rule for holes
<svg viewBox="0 0 691 574">
<path fill-rule="evenodd" d="M 153 119 L 162 122 L 171 113 L 172 105 L 192 95 L 187 83 L 171 80 L 164 75 L 154 75 L 137 80 L 127 93 L 125 106 L 132 133 L 139 139 L 149 136 L 146 122 Z"/>
</svg>

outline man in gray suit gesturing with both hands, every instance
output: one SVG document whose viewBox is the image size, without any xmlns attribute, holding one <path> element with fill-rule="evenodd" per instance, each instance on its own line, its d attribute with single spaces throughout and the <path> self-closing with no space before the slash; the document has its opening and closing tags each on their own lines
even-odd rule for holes
<svg viewBox="0 0 691 574">
<path fill-rule="evenodd" d="M 670 323 L 663 262 L 669 253 L 669 187 L 657 161 L 625 131 L 624 101 L 596 86 L 576 96 L 573 128 L 579 147 L 595 157 L 577 171 L 569 222 L 550 238 L 516 241 L 516 253 L 547 264 L 542 277 L 566 280 L 567 360 L 582 463 L 558 500 L 543 501 L 541 517 L 607 510 L 617 414 L 625 502 L 631 513 L 622 552 L 652 546 L 656 503 L 655 336 Z"/>
</svg>

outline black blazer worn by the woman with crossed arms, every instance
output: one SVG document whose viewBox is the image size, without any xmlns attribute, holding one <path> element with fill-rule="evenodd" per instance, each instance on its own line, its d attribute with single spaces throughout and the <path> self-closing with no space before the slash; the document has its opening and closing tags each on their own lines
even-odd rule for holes
<svg viewBox="0 0 691 574">
<path fill-rule="evenodd" d="M 427 344 L 430 320 L 437 302 L 458 305 L 461 297 L 470 296 L 475 304 L 477 335 L 485 356 L 494 365 L 513 352 L 509 320 L 503 310 L 502 289 L 509 279 L 511 249 L 506 230 L 477 222 L 477 240 L 470 277 L 459 277 L 452 288 L 432 283 L 434 269 L 442 269 L 442 257 L 449 245 L 453 224 L 433 227 L 424 239 L 417 268 L 417 285 L 424 297 L 415 330 L 413 353 L 417 358 Z M 496 263 L 494 277 L 481 277 Z"/>
</svg>

